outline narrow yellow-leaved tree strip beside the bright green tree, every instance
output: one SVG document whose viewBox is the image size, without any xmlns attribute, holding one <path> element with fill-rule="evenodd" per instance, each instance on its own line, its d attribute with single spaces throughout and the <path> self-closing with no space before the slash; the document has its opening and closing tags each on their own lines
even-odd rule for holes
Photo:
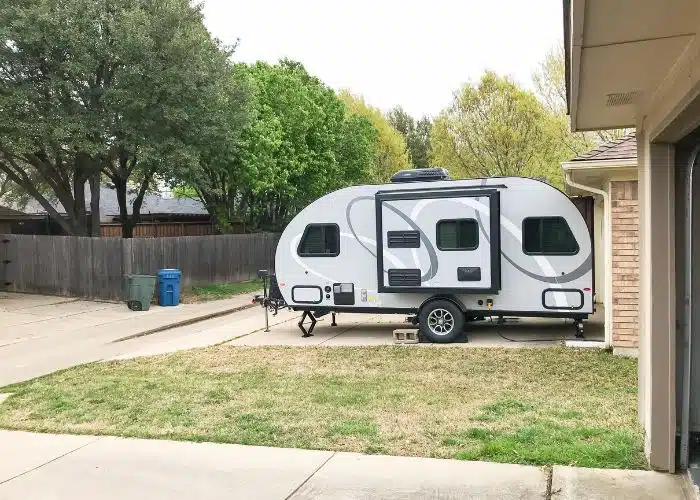
<svg viewBox="0 0 700 500">
<path fill-rule="evenodd" d="M 352 115 L 366 118 L 377 131 L 374 180 L 389 182 L 391 176 L 399 170 L 411 168 L 404 137 L 391 126 L 381 111 L 369 106 L 361 96 L 353 95 L 347 90 L 339 92 L 338 97 Z"/>
</svg>

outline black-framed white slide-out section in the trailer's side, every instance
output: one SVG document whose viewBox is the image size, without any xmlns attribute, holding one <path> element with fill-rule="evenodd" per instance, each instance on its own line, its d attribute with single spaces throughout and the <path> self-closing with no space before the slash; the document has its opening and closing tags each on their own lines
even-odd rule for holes
<svg viewBox="0 0 700 500">
<path fill-rule="evenodd" d="M 499 207 L 481 187 L 377 193 L 379 291 L 498 292 Z"/>
</svg>

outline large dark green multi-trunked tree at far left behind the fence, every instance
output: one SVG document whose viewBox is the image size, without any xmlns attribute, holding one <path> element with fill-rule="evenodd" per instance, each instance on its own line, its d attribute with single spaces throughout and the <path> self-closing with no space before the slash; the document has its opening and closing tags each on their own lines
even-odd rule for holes
<svg viewBox="0 0 700 500">
<path fill-rule="evenodd" d="M 201 7 L 188 0 L 19 2 L 3 7 L 0 39 L 0 170 L 68 234 L 99 234 L 105 175 L 130 237 L 153 179 L 195 161 L 190 137 L 206 126 L 212 95 L 228 77 L 229 52 L 211 39 Z M 95 215 L 89 229 L 86 182 Z"/>
</svg>

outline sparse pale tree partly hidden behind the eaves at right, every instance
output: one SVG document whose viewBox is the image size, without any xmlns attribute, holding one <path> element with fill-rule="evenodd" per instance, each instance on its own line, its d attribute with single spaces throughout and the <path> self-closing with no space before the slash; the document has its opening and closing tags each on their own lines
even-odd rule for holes
<svg viewBox="0 0 700 500">
<path fill-rule="evenodd" d="M 566 77 L 564 45 L 557 44 L 549 50 L 532 76 L 538 97 L 554 115 L 555 130 L 570 156 L 577 156 L 593 149 L 597 144 L 618 139 L 629 129 L 598 130 L 595 132 L 571 132 L 566 115 Z"/>
</svg>

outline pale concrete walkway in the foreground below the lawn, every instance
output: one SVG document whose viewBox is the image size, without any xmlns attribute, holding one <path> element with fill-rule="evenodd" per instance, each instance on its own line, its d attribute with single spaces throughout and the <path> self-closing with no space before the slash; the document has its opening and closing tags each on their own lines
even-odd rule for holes
<svg viewBox="0 0 700 500">
<path fill-rule="evenodd" d="M 678 476 L 0 431 L 0 499 L 665 499 Z"/>
</svg>

